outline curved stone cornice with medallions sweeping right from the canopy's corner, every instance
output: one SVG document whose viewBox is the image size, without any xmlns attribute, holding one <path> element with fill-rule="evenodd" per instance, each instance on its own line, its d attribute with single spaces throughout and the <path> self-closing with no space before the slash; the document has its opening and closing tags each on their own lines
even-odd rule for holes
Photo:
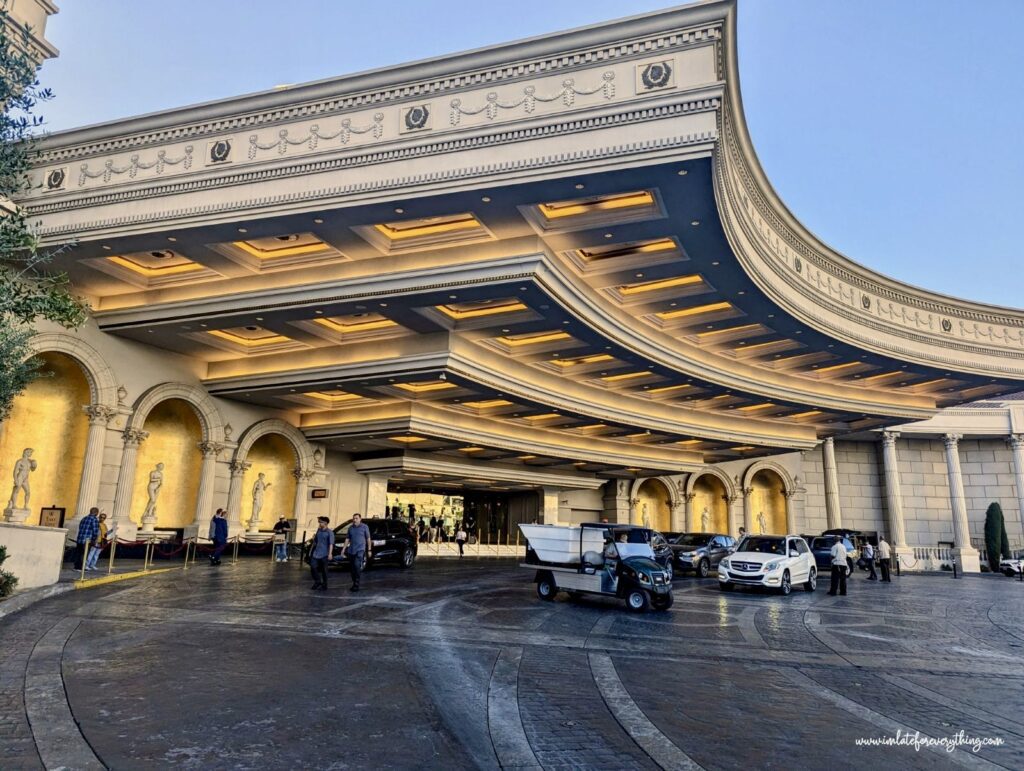
<svg viewBox="0 0 1024 771">
<path fill-rule="evenodd" d="M 720 51 L 727 86 L 716 195 L 733 251 L 758 286 L 794 316 L 866 350 L 935 368 L 1024 376 L 1024 311 L 945 297 L 876 273 L 800 224 L 765 177 L 743 122 L 734 12 Z"/>
</svg>

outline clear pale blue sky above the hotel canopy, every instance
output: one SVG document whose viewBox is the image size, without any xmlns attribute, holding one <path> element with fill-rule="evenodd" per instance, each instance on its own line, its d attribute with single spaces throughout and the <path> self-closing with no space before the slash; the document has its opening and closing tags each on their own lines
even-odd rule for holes
<svg viewBox="0 0 1024 771">
<path fill-rule="evenodd" d="M 666 7 L 633 0 L 65 0 L 51 130 Z M 768 177 L 876 270 L 1024 307 L 1024 0 L 740 0 Z"/>
</svg>

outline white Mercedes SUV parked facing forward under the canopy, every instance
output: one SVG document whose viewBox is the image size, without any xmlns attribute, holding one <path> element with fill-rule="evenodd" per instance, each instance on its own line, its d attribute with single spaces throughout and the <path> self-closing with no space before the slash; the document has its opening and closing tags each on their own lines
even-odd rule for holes
<svg viewBox="0 0 1024 771">
<path fill-rule="evenodd" d="M 794 584 L 813 592 L 818 585 L 814 554 L 800 536 L 748 536 L 718 563 L 718 585 L 769 587 L 790 594 Z"/>
</svg>

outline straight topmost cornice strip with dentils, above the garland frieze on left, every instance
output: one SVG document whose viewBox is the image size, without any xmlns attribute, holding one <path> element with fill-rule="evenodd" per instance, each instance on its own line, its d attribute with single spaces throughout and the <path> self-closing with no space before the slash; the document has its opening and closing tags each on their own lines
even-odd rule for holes
<svg viewBox="0 0 1024 771">
<path fill-rule="evenodd" d="M 39 143 L 43 163 L 318 118 L 472 87 L 559 75 L 714 42 L 732 0 L 701 2 L 463 53 L 59 132 Z"/>
</svg>

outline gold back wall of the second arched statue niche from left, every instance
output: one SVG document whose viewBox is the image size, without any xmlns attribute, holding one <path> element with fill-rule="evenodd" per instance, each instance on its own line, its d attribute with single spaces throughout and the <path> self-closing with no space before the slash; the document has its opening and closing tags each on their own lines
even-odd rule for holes
<svg viewBox="0 0 1024 771">
<path fill-rule="evenodd" d="M 148 501 L 150 472 L 164 464 L 164 485 L 157 497 L 157 527 L 175 529 L 191 524 L 196 517 L 199 475 L 203 458 L 199 443 L 203 429 L 195 410 L 181 399 L 157 404 L 145 419 L 143 431 L 150 436 L 139 447 L 131 518 L 141 524 Z"/>
</svg>

